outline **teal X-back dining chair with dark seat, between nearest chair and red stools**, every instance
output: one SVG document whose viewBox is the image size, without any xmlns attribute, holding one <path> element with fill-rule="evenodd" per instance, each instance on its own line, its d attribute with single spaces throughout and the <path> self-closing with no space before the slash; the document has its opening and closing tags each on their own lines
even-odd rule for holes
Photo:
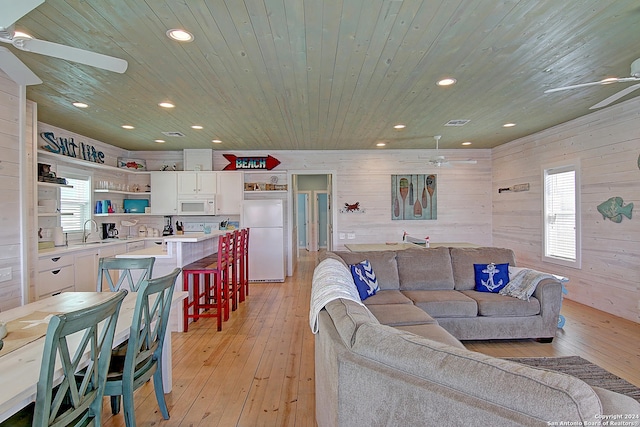
<svg viewBox="0 0 640 427">
<path fill-rule="evenodd" d="M 169 410 L 162 384 L 162 348 L 169 322 L 176 268 L 166 276 L 143 280 L 136 296 L 131 332 L 124 356 L 113 354 L 107 375 L 105 396 L 111 396 L 111 411 L 120 412 L 120 396 L 127 427 L 136 425 L 133 392 L 153 377 L 153 388 L 160 412 L 165 420 Z"/>
</svg>

